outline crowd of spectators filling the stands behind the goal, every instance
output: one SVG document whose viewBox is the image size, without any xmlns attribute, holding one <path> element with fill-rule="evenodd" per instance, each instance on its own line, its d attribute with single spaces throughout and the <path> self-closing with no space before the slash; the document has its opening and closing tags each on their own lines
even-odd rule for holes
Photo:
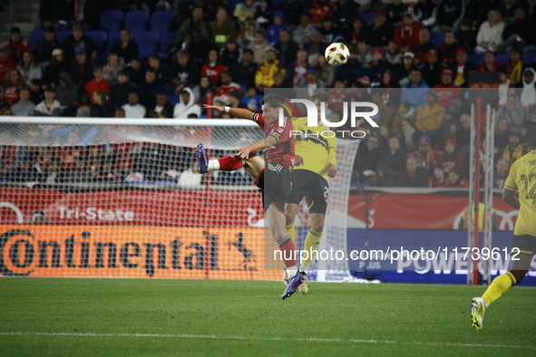
<svg viewBox="0 0 536 357">
<path fill-rule="evenodd" d="M 14 27 L 0 49 L 0 115 L 207 118 L 202 105 L 208 101 L 259 111 L 265 88 L 295 88 L 306 96 L 334 88 L 333 118 L 342 115 L 337 103 L 345 100 L 373 101 L 380 109 L 379 130 L 361 128 L 369 135 L 356 156 L 356 182 L 460 188 L 467 186 L 469 165 L 469 75 L 497 73 L 493 121 L 500 187 L 523 153 L 520 137 L 535 119 L 535 5 L 533 0 L 43 0 L 35 30 L 44 30 L 44 40 L 31 48 Z M 173 12 L 167 30 L 174 41 L 163 52 L 141 56 L 122 28 L 117 43 L 100 47 L 87 33 L 102 28 L 100 14 L 112 9 Z M 56 34 L 65 31 L 72 34 L 58 41 Z M 348 45 L 346 65 L 326 63 L 324 51 L 333 42 Z M 80 135 L 75 132 L 68 135 Z M 149 143 L 2 147 L 0 179 L 76 181 L 80 170 L 82 180 L 156 182 L 164 171 L 165 178 L 177 180 L 190 173 L 186 152 Z"/>
</svg>

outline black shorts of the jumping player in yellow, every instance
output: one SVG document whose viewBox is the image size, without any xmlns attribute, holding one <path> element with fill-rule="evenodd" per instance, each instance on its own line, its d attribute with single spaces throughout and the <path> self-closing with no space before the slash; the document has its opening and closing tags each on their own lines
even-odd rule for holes
<svg viewBox="0 0 536 357">
<path fill-rule="evenodd" d="M 299 205 L 302 198 L 307 198 L 309 213 L 326 214 L 329 184 L 326 179 L 308 169 L 292 171 L 292 190 L 287 203 Z"/>
</svg>

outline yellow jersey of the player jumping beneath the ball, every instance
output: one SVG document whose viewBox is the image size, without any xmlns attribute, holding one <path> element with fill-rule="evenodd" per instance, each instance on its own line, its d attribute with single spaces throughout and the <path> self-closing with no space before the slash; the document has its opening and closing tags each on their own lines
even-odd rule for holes
<svg viewBox="0 0 536 357">
<path fill-rule="evenodd" d="M 336 166 L 336 138 L 335 132 L 329 130 L 322 123 L 310 127 L 307 117 L 295 118 L 294 139 L 296 140 L 296 155 L 304 159 L 303 165 L 294 169 L 308 169 L 327 180 L 327 166 Z"/>
</svg>

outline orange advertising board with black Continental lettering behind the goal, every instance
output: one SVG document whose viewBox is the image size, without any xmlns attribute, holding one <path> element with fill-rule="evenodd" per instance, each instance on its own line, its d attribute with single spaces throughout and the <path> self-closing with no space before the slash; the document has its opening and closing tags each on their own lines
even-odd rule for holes
<svg viewBox="0 0 536 357">
<path fill-rule="evenodd" d="M 262 228 L 0 226 L 0 275 L 278 280 Z M 251 256 L 233 242 L 243 236 Z M 275 248 L 274 246 L 271 248 Z"/>
</svg>

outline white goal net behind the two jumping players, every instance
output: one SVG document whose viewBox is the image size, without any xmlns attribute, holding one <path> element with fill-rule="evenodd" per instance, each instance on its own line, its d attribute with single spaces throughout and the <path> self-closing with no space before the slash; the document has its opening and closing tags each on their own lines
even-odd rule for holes
<svg viewBox="0 0 536 357">
<path fill-rule="evenodd" d="M 249 121 L 0 119 L 0 275 L 279 280 L 247 172 L 195 172 L 200 142 L 220 158 L 263 138 Z M 345 141 L 327 249 L 346 249 Z M 347 275 L 314 264 L 325 280 Z"/>
</svg>

